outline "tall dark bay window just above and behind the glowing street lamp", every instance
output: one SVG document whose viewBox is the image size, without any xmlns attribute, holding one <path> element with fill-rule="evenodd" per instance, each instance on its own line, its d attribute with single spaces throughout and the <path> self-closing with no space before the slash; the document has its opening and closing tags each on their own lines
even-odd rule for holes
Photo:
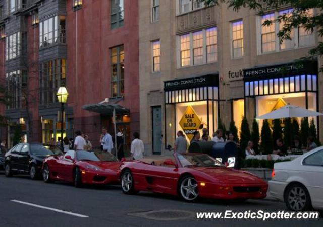
<svg viewBox="0 0 323 227">
<path fill-rule="evenodd" d="M 39 65 L 40 103 L 57 102 L 56 93 L 66 82 L 66 60 L 56 59 Z"/>
</svg>

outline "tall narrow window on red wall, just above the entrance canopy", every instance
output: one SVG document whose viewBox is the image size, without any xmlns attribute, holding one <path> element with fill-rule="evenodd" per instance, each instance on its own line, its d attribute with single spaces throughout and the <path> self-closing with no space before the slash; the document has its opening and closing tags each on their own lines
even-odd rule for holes
<svg viewBox="0 0 323 227">
<path fill-rule="evenodd" d="M 111 56 L 111 90 L 112 97 L 121 97 L 125 94 L 125 52 L 124 46 L 110 49 Z"/>
</svg>

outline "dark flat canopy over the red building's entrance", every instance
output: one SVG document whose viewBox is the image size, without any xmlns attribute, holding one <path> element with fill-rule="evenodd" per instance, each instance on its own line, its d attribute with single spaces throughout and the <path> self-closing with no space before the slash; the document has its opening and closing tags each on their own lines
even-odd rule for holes
<svg viewBox="0 0 323 227">
<path fill-rule="evenodd" d="M 104 115 L 113 115 L 113 110 L 116 110 L 116 114 L 129 114 L 130 110 L 117 104 L 122 99 L 105 99 L 103 102 L 95 104 L 87 104 L 82 108 L 95 113 Z"/>
</svg>

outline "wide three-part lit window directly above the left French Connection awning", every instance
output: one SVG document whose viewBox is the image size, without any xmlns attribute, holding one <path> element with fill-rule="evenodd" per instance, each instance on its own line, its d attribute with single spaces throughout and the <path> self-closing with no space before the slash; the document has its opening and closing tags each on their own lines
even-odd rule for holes
<svg viewBox="0 0 323 227">
<path fill-rule="evenodd" d="M 179 36 L 179 66 L 215 62 L 218 60 L 217 49 L 216 27 L 181 35 Z M 193 56 L 192 61 L 191 56 Z"/>
</svg>

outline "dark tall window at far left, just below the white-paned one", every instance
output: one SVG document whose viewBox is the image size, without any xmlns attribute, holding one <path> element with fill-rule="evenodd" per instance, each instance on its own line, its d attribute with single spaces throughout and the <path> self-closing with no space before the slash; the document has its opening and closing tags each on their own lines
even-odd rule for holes
<svg viewBox="0 0 323 227">
<path fill-rule="evenodd" d="M 7 109 L 25 107 L 27 94 L 27 73 L 23 70 L 16 70 L 6 73 L 7 83 Z"/>
</svg>

